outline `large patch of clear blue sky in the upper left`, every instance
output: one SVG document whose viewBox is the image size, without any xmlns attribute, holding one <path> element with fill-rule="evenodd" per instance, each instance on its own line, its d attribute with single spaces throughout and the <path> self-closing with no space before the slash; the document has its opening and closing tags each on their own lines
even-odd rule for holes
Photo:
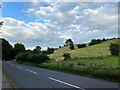
<svg viewBox="0 0 120 90">
<path fill-rule="evenodd" d="M 2 11 L 3 17 L 11 17 L 17 20 L 24 21 L 25 23 L 35 21 L 35 17 L 28 17 L 24 12 L 31 6 L 31 2 L 4 2 Z M 46 6 L 42 4 L 42 6 Z"/>
</svg>

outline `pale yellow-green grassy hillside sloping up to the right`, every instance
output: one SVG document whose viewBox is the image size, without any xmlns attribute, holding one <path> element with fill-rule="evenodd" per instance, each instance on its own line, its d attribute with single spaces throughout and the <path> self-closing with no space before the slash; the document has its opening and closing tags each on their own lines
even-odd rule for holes
<svg viewBox="0 0 120 90">
<path fill-rule="evenodd" d="M 118 39 L 107 40 L 100 44 L 87 46 L 84 48 L 77 48 L 70 50 L 69 47 L 58 48 L 53 54 L 49 55 L 51 59 L 63 60 L 62 55 L 69 53 L 72 58 L 103 58 L 110 55 L 110 43 L 118 43 Z"/>
</svg>

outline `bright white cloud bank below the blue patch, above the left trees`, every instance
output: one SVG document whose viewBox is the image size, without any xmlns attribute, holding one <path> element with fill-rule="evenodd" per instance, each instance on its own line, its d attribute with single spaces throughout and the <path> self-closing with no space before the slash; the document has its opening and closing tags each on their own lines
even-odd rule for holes
<svg viewBox="0 0 120 90">
<path fill-rule="evenodd" d="M 19 39 L 27 48 L 40 45 L 42 47 L 57 47 L 62 39 L 59 35 L 49 30 L 49 24 L 29 22 L 25 24 L 22 21 L 13 18 L 2 18 L 5 24 L 2 27 L 2 37 L 6 38 L 11 44 L 15 44 Z M 52 27 L 51 27 L 52 28 Z"/>
</svg>

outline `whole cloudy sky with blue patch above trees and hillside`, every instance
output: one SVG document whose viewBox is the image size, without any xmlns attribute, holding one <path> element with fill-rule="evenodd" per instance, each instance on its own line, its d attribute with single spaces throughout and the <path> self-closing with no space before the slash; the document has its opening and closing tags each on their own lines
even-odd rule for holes
<svg viewBox="0 0 120 90">
<path fill-rule="evenodd" d="M 111 0 L 112 1 L 112 0 Z M 118 37 L 117 2 L 3 2 L 1 37 L 27 49 Z"/>
</svg>

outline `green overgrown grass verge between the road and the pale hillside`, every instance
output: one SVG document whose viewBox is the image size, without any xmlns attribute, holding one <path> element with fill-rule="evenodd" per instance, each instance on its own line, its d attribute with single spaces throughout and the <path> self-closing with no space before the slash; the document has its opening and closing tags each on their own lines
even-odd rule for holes
<svg viewBox="0 0 120 90">
<path fill-rule="evenodd" d="M 114 63 L 110 63 L 114 62 Z M 77 75 L 84 75 L 114 82 L 119 82 L 120 67 L 118 66 L 117 57 L 107 57 L 104 59 L 70 59 L 65 61 L 51 60 L 41 64 L 30 62 L 18 62 L 30 66 L 46 68 L 61 72 L 67 72 Z"/>
</svg>

